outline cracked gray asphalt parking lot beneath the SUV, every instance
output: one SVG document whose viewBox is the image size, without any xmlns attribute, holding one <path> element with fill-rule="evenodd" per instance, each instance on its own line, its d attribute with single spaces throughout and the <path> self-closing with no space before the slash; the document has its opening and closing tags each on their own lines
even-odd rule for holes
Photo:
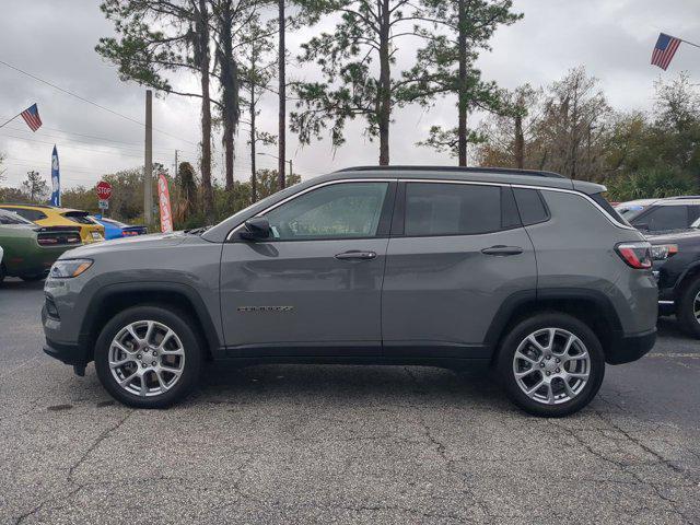
<svg viewBox="0 0 700 525">
<path fill-rule="evenodd" d="M 40 351 L 0 288 L 0 523 L 700 523 L 700 342 L 661 323 L 574 417 L 427 368 L 211 365 L 170 410 Z"/>
</svg>

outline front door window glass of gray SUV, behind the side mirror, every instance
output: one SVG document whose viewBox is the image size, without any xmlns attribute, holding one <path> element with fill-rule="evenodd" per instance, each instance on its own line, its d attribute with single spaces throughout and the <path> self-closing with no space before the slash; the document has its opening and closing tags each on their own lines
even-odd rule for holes
<svg viewBox="0 0 700 525">
<path fill-rule="evenodd" d="M 377 235 L 389 183 L 324 186 L 265 214 L 278 241 L 360 238 Z"/>
</svg>

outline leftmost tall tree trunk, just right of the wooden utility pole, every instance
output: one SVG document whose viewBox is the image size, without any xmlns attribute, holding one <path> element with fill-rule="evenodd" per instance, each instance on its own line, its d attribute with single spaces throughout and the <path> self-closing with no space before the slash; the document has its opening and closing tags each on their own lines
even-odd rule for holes
<svg viewBox="0 0 700 525">
<path fill-rule="evenodd" d="M 197 37 L 201 75 L 201 185 L 203 211 L 209 224 L 214 219 L 214 196 L 211 188 L 211 101 L 209 97 L 209 20 L 207 0 L 199 0 Z"/>
</svg>

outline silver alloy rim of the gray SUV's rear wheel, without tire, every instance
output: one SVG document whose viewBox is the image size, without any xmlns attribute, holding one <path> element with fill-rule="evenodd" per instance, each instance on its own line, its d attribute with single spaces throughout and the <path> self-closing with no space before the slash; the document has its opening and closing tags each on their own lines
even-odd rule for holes
<svg viewBox="0 0 700 525">
<path fill-rule="evenodd" d="M 541 328 L 517 346 L 513 374 L 527 397 L 542 405 L 559 405 L 575 398 L 588 383 L 591 357 L 571 331 Z"/>
</svg>

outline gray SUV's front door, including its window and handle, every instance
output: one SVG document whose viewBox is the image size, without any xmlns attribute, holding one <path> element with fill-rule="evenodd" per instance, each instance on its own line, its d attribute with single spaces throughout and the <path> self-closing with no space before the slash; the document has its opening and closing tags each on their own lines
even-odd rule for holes
<svg viewBox="0 0 700 525">
<path fill-rule="evenodd" d="M 394 192 L 389 180 L 320 185 L 262 213 L 268 241 L 225 244 L 228 353 L 378 354 Z"/>
</svg>

